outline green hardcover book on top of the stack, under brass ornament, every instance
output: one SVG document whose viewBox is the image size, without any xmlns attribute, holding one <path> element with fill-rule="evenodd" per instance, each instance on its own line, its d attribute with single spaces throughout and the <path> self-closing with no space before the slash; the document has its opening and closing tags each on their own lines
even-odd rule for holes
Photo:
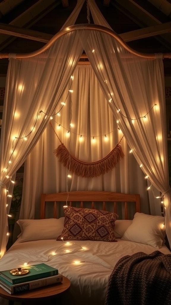
<svg viewBox="0 0 171 305">
<path fill-rule="evenodd" d="M 0 271 L 0 275 L 10 283 L 18 284 L 58 274 L 58 269 L 50 267 L 44 263 L 28 266 L 25 269 L 29 270 L 25 275 L 12 275 L 10 273 L 11 270 Z"/>
</svg>

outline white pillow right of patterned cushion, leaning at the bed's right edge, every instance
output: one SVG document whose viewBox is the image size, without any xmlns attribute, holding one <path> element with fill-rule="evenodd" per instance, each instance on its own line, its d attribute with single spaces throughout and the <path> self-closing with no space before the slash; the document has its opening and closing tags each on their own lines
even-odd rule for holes
<svg viewBox="0 0 171 305">
<path fill-rule="evenodd" d="M 165 242 L 164 217 L 135 213 L 132 224 L 127 228 L 122 240 L 140 242 L 161 248 Z"/>
</svg>

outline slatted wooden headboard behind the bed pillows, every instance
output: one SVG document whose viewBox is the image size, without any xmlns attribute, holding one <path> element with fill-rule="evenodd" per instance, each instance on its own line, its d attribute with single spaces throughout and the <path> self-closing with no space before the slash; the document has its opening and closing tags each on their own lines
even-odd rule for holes
<svg viewBox="0 0 171 305">
<path fill-rule="evenodd" d="M 48 202 L 54 202 L 53 217 L 58 218 L 58 206 L 63 204 L 72 206 L 73 203 L 79 202 L 79 207 L 84 207 L 84 202 L 91 203 L 91 209 L 95 208 L 95 202 L 102 202 L 102 210 L 106 210 L 106 203 L 113 203 L 113 212 L 117 213 L 117 203 L 124 203 L 124 219 L 128 219 L 128 203 L 135 206 L 135 212 L 140 212 L 140 195 L 139 194 L 122 194 L 103 191 L 76 191 L 63 192 L 56 194 L 42 194 L 40 205 L 40 219 L 45 218 L 45 205 Z"/>
</svg>

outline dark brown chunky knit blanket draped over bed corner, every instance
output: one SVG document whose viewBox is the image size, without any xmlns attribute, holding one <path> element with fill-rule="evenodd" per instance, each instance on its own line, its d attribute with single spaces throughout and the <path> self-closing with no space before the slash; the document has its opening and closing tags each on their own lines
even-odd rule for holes
<svg viewBox="0 0 171 305">
<path fill-rule="evenodd" d="M 171 254 L 122 257 L 109 278 L 105 305 L 171 305 Z"/>
</svg>

